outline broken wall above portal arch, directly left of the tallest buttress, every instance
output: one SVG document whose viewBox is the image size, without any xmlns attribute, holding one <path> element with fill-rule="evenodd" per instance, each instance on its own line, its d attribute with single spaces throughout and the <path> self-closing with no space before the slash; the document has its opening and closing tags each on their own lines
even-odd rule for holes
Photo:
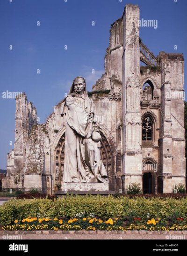
<svg viewBox="0 0 187 256">
<path fill-rule="evenodd" d="M 93 91 L 110 91 L 107 94 L 93 95 L 94 113 L 97 122 L 113 140 L 116 150 L 120 151 L 122 151 L 122 44 L 123 23 L 122 19 L 119 19 L 111 26 L 109 47 L 105 56 L 105 74 L 93 86 Z M 117 136 L 119 129 L 120 136 Z"/>
</svg>

